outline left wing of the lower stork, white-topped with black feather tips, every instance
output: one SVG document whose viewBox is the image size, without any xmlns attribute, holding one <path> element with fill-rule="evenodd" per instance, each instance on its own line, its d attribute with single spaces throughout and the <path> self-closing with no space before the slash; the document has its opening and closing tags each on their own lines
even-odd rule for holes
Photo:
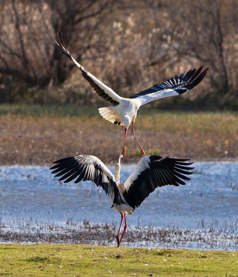
<svg viewBox="0 0 238 277">
<path fill-rule="evenodd" d="M 105 164 L 95 156 L 84 155 L 67 157 L 60 159 L 54 163 L 55 166 L 51 167 L 52 174 L 56 174 L 54 177 L 62 176 L 59 181 L 65 180 L 64 183 L 68 183 L 77 178 L 74 183 L 78 183 L 81 180 L 93 181 L 97 187 L 102 187 L 105 193 L 112 198 L 116 197 L 114 203 L 118 203 L 118 187 L 115 178 L 111 171 L 105 166 Z"/>
</svg>

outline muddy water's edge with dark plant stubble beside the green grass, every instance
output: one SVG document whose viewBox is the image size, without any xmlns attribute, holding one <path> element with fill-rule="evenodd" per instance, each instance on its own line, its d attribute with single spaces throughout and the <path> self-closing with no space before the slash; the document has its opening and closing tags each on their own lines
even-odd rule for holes
<svg viewBox="0 0 238 277">
<path fill-rule="evenodd" d="M 14 230 L 4 224 L 0 243 L 59 243 L 116 246 L 117 223 L 68 223 L 45 227 L 20 225 Z M 18 227 L 19 228 L 19 227 Z M 236 224 L 217 228 L 183 229 L 181 227 L 128 227 L 122 244 L 128 247 L 190 248 L 237 251 Z"/>
</svg>

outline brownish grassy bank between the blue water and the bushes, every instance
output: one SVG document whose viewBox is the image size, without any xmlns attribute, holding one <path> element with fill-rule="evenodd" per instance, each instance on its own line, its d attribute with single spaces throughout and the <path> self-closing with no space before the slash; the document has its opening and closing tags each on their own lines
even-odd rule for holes
<svg viewBox="0 0 238 277">
<path fill-rule="evenodd" d="M 71 155 L 118 159 L 120 126 L 97 108 L 0 105 L 0 164 L 50 165 Z M 134 126 L 147 155 L 178 158 L 236 159 L 237 112 L 165 112 L 141 108 Z M 128 132 L 125 162 L 137 162 L 139 147 Z M 113 149 L 113 150 L 112 150 Z M 122 161 L 122 162 L 123 162 Z"/>
</svg>

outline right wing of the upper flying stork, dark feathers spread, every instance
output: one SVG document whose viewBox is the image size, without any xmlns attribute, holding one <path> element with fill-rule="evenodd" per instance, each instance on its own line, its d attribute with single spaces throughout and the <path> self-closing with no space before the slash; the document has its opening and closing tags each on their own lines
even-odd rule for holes
<svg viewBox="0 0 238 277">
<path fill-rule="evenodd" d="M 141 105 L 144 105 L 159 98 L 182 94 L 199 84 L 205 77 L 208 68 L 202 72 L 201 70 L 202 66 L 199 67 L 198 70 L 190 69 L 188 72 L 183 73 L 180 76 L 176 75 L 161 84 L 156 84 L 147 90 L 143 90 L 132 95 L 129 98 L 138 98 L 141 100 Z"/>
</svg>

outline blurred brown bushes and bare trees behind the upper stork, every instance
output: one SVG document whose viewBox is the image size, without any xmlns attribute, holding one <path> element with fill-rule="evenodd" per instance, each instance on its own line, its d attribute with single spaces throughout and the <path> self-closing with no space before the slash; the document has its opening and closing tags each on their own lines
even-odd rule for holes
<svg viewBox="0 0 238 277">
<path fill-rule="evenodd" d="M 1 0 L 0 103 L 105 106 L 71 53 L 118 94 L 129 97 L 190 68 L 209 67 L 195 89 L 153 101 L 165 109 L 238 107 L 236 0 Z"/>
</svg>

